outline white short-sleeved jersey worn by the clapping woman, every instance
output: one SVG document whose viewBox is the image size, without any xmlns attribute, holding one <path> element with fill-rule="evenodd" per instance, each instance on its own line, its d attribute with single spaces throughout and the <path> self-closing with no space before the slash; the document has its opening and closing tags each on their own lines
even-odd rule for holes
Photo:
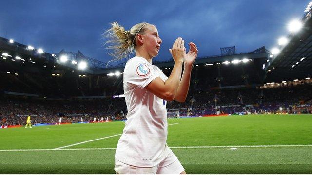
<svg viewBox="0 0 312 175">
<path fill-rule="evenodd" d="M 127 121 L 116 149 L 115 158 L 125 164 L 152 167 L 170 153 L 167 146 L 167 102 L 149 92 L 155 78 L 168 77 L 142 57 L 128 60 L 123 72 L 123 88 L 128 109 Z"/>
</svg>

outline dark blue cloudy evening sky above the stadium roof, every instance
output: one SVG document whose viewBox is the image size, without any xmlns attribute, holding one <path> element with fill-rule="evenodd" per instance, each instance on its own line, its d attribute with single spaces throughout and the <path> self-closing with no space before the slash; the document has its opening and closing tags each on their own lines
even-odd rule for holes
<svg viewBox="0 0 312 175">
<path fill-rule="evenodd" d="M 302 18 L 309 0 L 0 0 L 0 36 L 48 53 L 61 49 L 107 62 L 101 34 L 117 21 L 126 30 L 139 22 L 158 28 L 163 43 L 156 60 L 171 58 L 177 37 L 195 42 L 198 56 L 277 45 L 291 19 Z M 114 64 L 114 63 L 113 63 Z M 116 63 L 115 63 L 116 64 Z"/>
</svg>

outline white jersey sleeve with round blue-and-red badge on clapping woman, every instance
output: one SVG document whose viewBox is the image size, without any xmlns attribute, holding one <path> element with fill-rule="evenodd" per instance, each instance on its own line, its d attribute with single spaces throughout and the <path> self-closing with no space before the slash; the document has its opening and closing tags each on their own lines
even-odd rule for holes
<svg viewBox="0 0 312 175">
<path fill-rule="evenodd" d="M 145 60 L 137 59 L 132 60 L 126 65 L 124 76 L 126 83 L 137 85 L 143 89 L 160 75 Z"/>
</svg>

